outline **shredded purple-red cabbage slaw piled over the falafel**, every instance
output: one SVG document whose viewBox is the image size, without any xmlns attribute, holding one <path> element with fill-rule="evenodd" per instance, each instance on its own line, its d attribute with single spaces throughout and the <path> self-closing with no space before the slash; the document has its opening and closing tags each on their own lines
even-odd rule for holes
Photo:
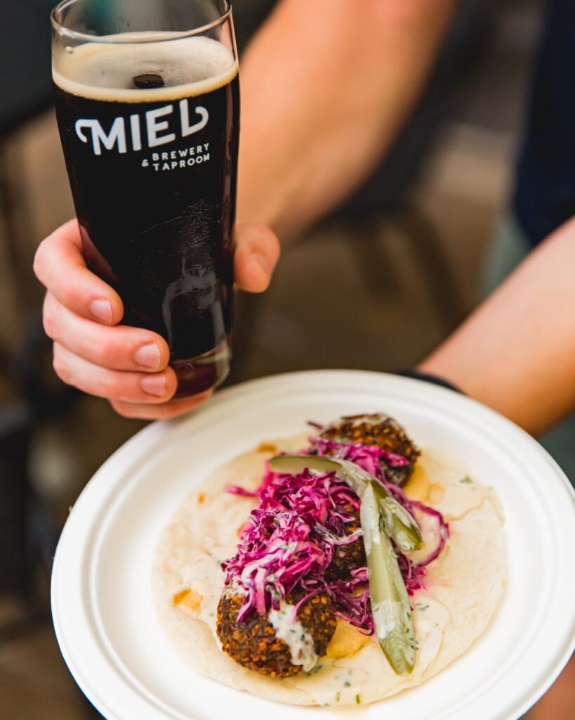
<svg viewBox="0 0 575 720">
<path fill-rule="evenodd" d="M 404 507 L 414 513 L 427 513 L 438 522 L 438 546 L 423 561 L 412 562 L 397 548 L 397 560 L 409 595 L 423 588 L 426 565 L 441 554 L 449 537 L 449 527 L 438 510 L 409 500 L 400 487 L 387 481 L 380 460 L 391 467 L 408 463 L 403 456 L 377 446 L 310 438 L 312 447 L 301 454 L 338 457 L 356 463 L 385 485 Z M 359 525 L 360 500 L 336 472 L 321 474 L 307 470 L 300 474 L 280 474 L 268 470 L 255 492 L 227 487 L 227 492 L 259 497 L 242 529 L 241 543 L 234 557 L 222 564 L 225 585 L 244 594 L 238 621 L 252 611 L 264 615 L 277 610 L 280 602 L 297 593 L 293 616 L 303 603 L 318 593 L 327 593 L 336 614 L 365 634 L 374 632 L 369 606 L 369 582 L 364 564 L 351 564 L 350 578 L 326 580 L 336 546 L 345 546 L 362 536 Z"/>
</svg>

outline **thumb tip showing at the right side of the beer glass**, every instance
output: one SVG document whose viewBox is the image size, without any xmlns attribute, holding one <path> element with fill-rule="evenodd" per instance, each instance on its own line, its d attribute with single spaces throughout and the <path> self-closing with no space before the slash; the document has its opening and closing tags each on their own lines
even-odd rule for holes
<svg viewBox="0 0 575 720">
<path fill-rule="evenodd" d="M 241 223 L 236 227 L 234 277 L 248 292 L 263 292 L 270 284 L 280 258 L 280 241 L 265 225 Z"/>
</svg>

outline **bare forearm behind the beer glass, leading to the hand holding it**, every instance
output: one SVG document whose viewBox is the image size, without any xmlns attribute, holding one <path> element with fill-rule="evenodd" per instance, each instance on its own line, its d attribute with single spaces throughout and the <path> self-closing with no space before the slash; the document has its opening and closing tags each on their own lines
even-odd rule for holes
<svg viewBox="0 0 575 720">
<path fill-rule="evenodd" d="M 456 0 L 283 0 L 242 61 L 239 217 L 298 233 L 377 165 Z"/>
</svg>

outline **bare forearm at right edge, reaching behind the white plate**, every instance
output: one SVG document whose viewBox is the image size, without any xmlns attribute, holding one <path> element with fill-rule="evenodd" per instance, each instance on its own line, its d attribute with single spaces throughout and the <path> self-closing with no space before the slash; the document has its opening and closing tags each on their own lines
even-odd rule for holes
<svg viewBox="0 0 575 720">
<path fill-rule="evenodd" d="M 575 409 L 575 219 L 420 366 L 534 435 Z"/>
</svg>

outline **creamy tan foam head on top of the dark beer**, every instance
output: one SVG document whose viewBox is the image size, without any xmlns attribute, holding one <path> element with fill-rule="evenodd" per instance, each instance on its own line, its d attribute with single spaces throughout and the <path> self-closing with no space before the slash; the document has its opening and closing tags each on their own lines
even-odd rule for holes
<svg viewBox="0 0 575 720">
<path fill-rule="evenodd" d="M 169 32 L 98 37 L 73 48 L 55 48 L 52 76 L 61 89 L 110 102 L 158 102 L 199 95 L 229 83 L 237 73 L 234 54 L 208 37 Z M 133 42 L 131 42 L 131 40 Z M 134 78 L 157 75 L 163 87 L 138 89 Z"/>
</svg>

